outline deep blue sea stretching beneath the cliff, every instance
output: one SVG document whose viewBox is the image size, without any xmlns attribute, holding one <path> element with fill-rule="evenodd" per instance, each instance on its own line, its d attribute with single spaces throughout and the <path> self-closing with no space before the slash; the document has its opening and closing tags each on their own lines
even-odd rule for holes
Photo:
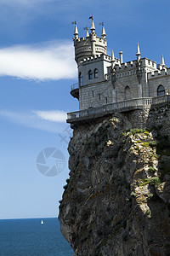
<svg viewBox="0 0 170 256">
<path fill-rule="evenodd" d="M 43 224 L 41 221 L 43 220 Z M 72 256 L 58 218 L 0 220 L 0 256 Z"/>
</svg>

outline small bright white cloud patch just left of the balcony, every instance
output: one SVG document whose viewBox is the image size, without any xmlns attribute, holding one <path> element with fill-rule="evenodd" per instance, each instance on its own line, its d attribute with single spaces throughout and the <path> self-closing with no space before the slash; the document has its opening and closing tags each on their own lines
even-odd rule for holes
<svg viewBox="0 0 170 256">
<path fill-rule="evenodd" d="M 52 122 L 61 122 L 65 123 L 66 121 L 66 113 L 59 110 L 51 110 L 51 111 L 33 111 L 37 116 L 41 119 L 45 119 Z"/>
</svg>

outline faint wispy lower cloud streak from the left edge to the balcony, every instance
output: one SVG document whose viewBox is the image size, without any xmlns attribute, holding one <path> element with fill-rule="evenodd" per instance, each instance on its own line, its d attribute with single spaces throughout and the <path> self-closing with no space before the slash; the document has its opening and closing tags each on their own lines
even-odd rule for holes
<svg viewBox="0 0 170 256">
<path fill-rule="evenodd" d="M 0 118 L 42 131 L 62 133 L 64 131 L 66 113 L 62 111 L 12 112 L 1 110 Z"/>
</svg>

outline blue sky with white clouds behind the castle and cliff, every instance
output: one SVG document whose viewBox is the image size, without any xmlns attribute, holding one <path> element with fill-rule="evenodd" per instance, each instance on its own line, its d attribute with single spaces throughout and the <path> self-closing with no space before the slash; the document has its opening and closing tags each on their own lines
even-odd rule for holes
<svg viewBox="0 0 170 256">
<path fill-rule="evenodd" d="M 107 53 L 170 66 L 168 0 L 0 0 L 0 218 L 57 217 L 72 136 L 66 113 L 77 82 L 72 37 L 94 16 L 105 23 Z M 48 156 L 51 157 L 48 157 Z M 58 160 L 54 169 L 54 160 Z"/>
</svg>

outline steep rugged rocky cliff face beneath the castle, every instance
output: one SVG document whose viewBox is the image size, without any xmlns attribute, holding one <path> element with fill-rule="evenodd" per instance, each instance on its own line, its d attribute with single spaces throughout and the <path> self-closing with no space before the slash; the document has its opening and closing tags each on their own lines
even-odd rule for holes
<svg viewBox="0 0 170 256">
<path fill-rule="evenodd" d="M 59 207 L 74 255 L 170 255 L 168 131 L 147 124 L 150 111 L 143 115 L 142 125 L 134 113 L 117 113 L 74 128 Z"/>
</svg>

